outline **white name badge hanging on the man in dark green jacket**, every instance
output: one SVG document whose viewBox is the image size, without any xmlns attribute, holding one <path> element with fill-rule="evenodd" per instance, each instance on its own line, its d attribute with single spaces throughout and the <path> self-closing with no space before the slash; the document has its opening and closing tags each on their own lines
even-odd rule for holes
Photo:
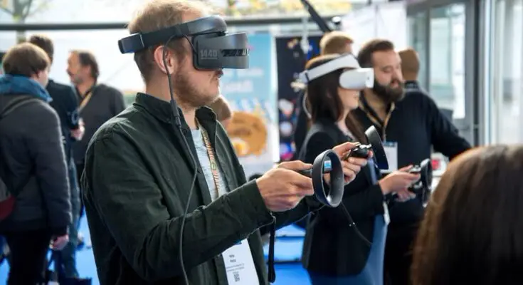
<svg viewBox="0 0 523 285">
<path fill-rule="evenodd" d="M 229 285 L 259 285 L 253 254 L 247 239 L 243 239 L 222 254 Z"/>
</svg>

